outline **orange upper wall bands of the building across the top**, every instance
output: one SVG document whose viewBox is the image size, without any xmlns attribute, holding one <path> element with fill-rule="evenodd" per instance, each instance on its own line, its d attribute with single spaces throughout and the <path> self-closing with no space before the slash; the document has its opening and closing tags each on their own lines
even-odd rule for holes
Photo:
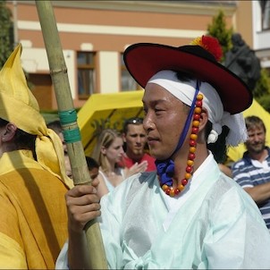
<svg viewBox="0 0 270 270">
<path fill-rule="evenodd" d="M 11 10 L 13 6 L 9 4 Z M 161 28 L 175 30 L 207 30 L 207 25 L 212 22 L 211 15 L 174 14 L 174 13 L 139 13 L 85 10 L 82 8 L 54 7 L 57 23 L 93 24 L 109 26 L 129 26 L 143 28 Z M 17 3 L 19 21 L 38 21 L 38 13 L 34 4 Z M 232 25 L 229 17 L 228 27 Z M 43 37 L 40 31 L 20 30 L 20 39 L 30 39 L 33 47 L 44 47 Z M 80 43 L 93 43 L 97 50 L 122 51 L 123 44 L 136 42 L 166 43 L 172 46 L 181 46 L 190 41 L 190 38 L 160 38 L 139 36 L 114 36 L 98 34 L 80 34 L 60 32 L 63 48 L 80 49 Z"/>
</svg>

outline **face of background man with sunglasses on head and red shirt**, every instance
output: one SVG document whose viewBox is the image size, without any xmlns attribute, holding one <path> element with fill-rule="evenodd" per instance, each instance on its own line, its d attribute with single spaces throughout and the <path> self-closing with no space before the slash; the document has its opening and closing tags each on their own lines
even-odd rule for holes
<svg viewBox="0 0 270 270">
<path fill-rule="evenodd" d="M 146 131 L 141 124 L 130 123 L 128 131 L 123 134 L 123 140 L 126 143 L 126 153 L 128 156 L 143 156 L 144 147 L 147 143 Z"/>
</svg>

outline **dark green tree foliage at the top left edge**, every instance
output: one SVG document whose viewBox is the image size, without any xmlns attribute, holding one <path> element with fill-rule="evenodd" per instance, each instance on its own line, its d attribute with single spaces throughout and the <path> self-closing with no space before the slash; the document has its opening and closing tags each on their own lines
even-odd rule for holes
<svg viewBox="0 0 270 270">
<path fill-rule="evenodd" d="M 5 0 L 0 0 L 0 68 L 13 52 L 13 39 L 12 13 Z"/>
</svg>

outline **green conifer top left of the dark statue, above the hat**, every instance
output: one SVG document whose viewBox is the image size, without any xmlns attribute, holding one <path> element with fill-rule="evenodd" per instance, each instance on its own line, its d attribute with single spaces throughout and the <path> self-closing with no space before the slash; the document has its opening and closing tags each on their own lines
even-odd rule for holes
<svg viewBox="0 0 270 270">
<path fill-rule="evenodd" d="M 216 16 L 213 17 L 212 23 L 207 26 L 207 35 L 215 37 L 219 40 L 220 45 L 223 48 L 223 54 L 225 55 L 232 47 L 232 28 L 226 28 L 225 15 L 220 10 Z M 224 61 L 224 56 L 221 62 Z"/>
</svg>

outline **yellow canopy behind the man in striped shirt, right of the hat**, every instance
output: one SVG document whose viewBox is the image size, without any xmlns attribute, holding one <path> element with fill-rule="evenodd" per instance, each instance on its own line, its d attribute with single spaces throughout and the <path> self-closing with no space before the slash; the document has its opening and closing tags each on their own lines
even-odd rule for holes
<svg viewBox="0 0 270 270">
<path fill-rule="evenodd" d="M 243 115 L 244 117 L 256 115 L 261 118 L 266 125 L 266 144 L 267 142 L 270 142 L 270 132 L 267 132 L 270 131 L 270 114 L 261 105 L 259 105 L 255 99 L 253 99 L 252 105 L 249 109 L 243 112 Z M 229 161 L 235 162 L 239 160 L 243 156 L 245 150 L 246 148 L 244 144 L 240 144 L 236 148 L 229 148 Z"/>
</svg>

